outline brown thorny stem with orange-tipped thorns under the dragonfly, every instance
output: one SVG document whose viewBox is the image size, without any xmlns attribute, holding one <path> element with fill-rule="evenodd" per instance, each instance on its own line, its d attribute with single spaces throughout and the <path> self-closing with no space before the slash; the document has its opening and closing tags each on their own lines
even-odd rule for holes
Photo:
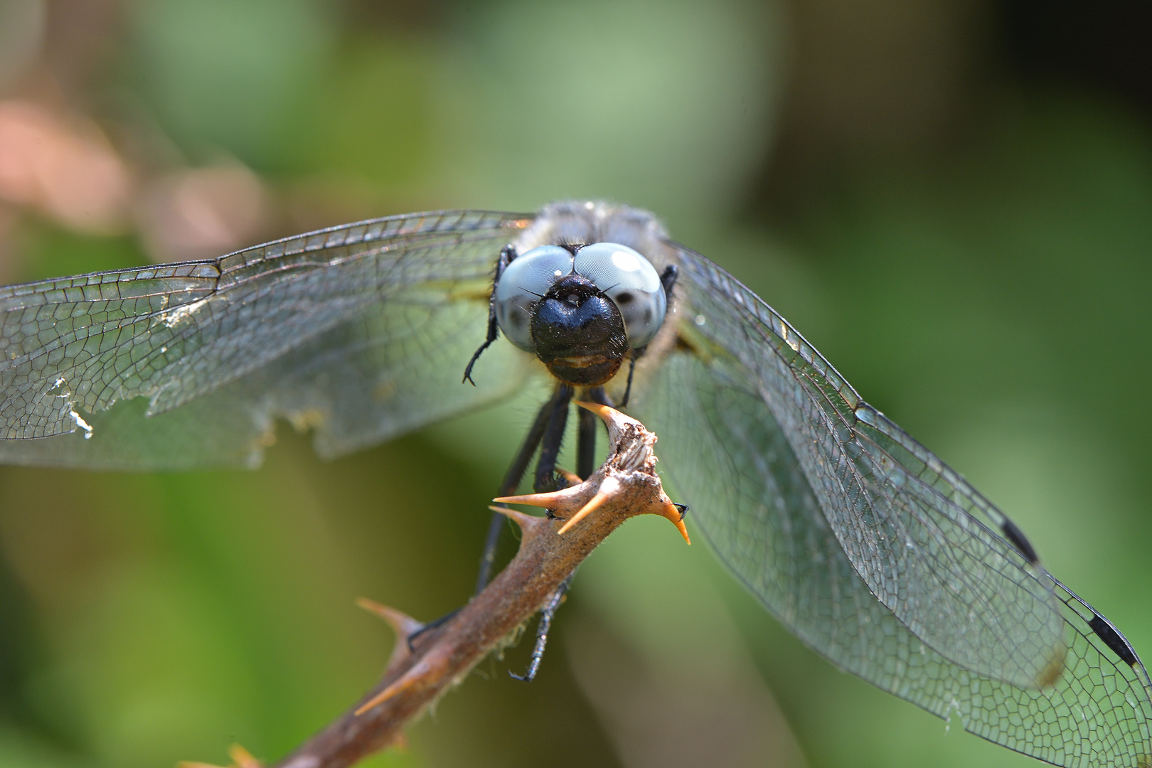
<svg viewBox="0 0 1152 768">
<path fill-rule="evenodd" d="M 576 567 L 629 517 L 667 517 L 688 540 L 682 514 L 665 495 L 655 473 L 655 435 L 611 408 L 581 405 L 608 425 L 611 453 L 600 469 L 563 491 L 495 500 L 545 507 L 554 519 L 494 507 L 520 525 L 520 550 L 460 611 L 415 637 L 411 649 L 409 638 L 423 624 L 386 606 L 361 601 L 396 631 L 396 645 L 384 677 L 348 712 L 273 768 L 344 768 L 403 743 L 404 727 L 528 622 Z M 233 758 L 237 768 L 257 765 L 242 750 L 234 751 Z"/>
</svg>

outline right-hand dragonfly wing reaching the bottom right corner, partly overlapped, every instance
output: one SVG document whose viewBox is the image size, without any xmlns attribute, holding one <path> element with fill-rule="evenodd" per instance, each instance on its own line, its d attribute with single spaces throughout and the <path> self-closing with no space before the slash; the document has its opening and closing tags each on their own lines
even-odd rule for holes
<svg viewBox="0 0 1152 768">
<path fill-rule="evenodd" d="M 1146 767 L 1147 677 L 1092 631 L 1096 614 L 1058 590 L 1061 676 L 1021 689 L 933 651 L 855 571 L 746 370 L 673 352 L 638 402 L 690 519 L 720 558 L 829 661 L 991 742 L 1058 766 Z M 1130 653 L 1130 648 L 1128 649 Z"/>
</svg>

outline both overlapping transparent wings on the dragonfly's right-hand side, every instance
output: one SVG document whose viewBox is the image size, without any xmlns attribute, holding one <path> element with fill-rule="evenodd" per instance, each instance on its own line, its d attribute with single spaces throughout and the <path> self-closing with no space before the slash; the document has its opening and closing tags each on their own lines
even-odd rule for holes
<svg viewBox="0 0 1152 768">
<path fill-rule="evenodd" d="M 680 263 L 681 341 L 637 412 L 728 568 L 831 661 L 973 733 L 1147 766 L 1152 686 L 1123 637 L 751 291 Z"/>
</svg>

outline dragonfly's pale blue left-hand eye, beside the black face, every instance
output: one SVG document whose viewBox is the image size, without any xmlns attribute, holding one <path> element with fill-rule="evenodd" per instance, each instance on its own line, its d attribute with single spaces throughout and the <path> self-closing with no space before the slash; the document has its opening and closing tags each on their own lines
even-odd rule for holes
<svg viewBox="0 0 1152 768">
<path fill-rule="evenodd" d="M 497 322 L 516 347 L 535 352 L 532 311 L 552 283 L 573 271 L 573 254 L 559 245 L 533 248 L 509 264 L 497 283 Z"/>
</svg>

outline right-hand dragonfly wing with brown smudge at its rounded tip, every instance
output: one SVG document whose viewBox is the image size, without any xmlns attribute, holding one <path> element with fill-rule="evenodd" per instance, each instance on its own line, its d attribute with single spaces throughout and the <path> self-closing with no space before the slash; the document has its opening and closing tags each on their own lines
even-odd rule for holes
<svg viewBox="0 0 1152 768">
<path fill-rule="evenodd" d="M 999 533 L 1003 515 L 744 286 L 687 250 L 681 271 L 694 318 L 681 321 L 681 339 L 749 372 L 877 599 L 965 669 L 1020 687 L 1058 674 L 1063 626 L 1052 583 L 1022 537 L 1014 545 Z"/>
</svg>

